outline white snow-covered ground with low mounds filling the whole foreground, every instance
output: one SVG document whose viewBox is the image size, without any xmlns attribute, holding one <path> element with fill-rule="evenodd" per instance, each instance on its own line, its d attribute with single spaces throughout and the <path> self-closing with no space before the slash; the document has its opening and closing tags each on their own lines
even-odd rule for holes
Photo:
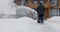
<svg viewBox="0 0 60 32">
<path fill-rule="evenodd" d="M 60 32 L 60 17 L 52 17 L 44 24 L 29 17 L 0 19 L 0 32 Z"/>
</svg>

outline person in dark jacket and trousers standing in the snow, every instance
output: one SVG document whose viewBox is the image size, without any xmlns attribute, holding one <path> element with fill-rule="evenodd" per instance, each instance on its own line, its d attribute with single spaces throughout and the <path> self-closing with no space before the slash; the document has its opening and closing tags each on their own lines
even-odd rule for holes
<svg viewBox="0 0 60 32">
<path fill-rule="evenodd" d="M 44 23 L 43 17 L 45 13 L 45 7 L 42 5 L 42 3 L 39 4 L 37 8 L 37 13 L 38 13 L 38 23 Z"/>
</svg>

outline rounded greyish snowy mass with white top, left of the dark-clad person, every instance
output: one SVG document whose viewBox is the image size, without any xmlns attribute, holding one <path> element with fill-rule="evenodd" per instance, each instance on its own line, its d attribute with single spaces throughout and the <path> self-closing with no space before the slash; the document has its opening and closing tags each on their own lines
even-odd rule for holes
<svg viewBox="0 0 60 32">
<path fill-rule="evenodd" d="M 26 6 L 19 6 L 17 8 L 16 14 L 18 17 L 27 16 L 33 19 L 37 19 L 37 12 L 34 9 Z"/>
</svg>

